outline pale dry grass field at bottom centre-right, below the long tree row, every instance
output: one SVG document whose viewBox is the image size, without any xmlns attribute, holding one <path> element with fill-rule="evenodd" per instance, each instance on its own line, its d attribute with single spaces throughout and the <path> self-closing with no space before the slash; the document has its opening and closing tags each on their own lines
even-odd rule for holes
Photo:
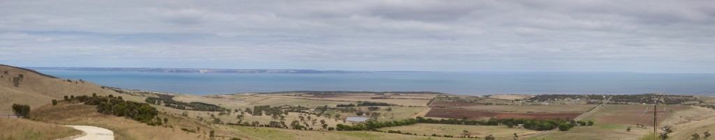
<svg viewBox="0 0 715 140">
<path fill-rule="evenodd" d="M 420 136 L 424 134 L 427 136 L 430 136 L 431 134 L 462 136 L 461 134 L 463 134 L 463 131 L 466 130 L 469 131 L 470 136 L 479 137 L 488 136 L 490 134 L 495 137 L 513 137 L 514 134 L 523 136 L 525 134 L 534 134 L 537 132 L 530 129 L 510 129 L 506 126 L 467 126 L 453 124 L 414 124 L 410 126 L 385 127 L 380 130 L 402 131 L 403 133 L 410 132 Z"/>
</svg>

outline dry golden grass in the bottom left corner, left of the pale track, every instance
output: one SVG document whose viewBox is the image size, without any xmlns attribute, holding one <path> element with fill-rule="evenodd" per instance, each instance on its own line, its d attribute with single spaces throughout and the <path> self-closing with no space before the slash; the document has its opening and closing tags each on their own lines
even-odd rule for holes
<svg viewBox="0 0 715 140">
<path fill-rule="evenodd" d="M 79 134 L 82 131 L 57 124 L 0 118 L 0 139 L 3 140 L 61 139 Z"/>
</svg>

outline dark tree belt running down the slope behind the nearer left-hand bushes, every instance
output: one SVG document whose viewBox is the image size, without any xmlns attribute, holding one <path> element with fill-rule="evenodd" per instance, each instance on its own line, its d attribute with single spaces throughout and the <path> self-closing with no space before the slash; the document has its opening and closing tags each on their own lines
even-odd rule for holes
<svg viewBox="0 0 715 140">
<path fill-rule="evenodd" d="M 167 107 L 171 107 L 174 109 L 182 109 L 182 110 L 193 110 L 193 111 L 227 111 L 226 108 L 223 108 L 221 106 L 217 106 L 214 104 L 206 104 L 202 102 L 190 102 L 186 103 L 183 101 L 174 101 L 172 98 L 174 96 L 172 95 L 166 95 L 166 94 L 157 94 L 159 97 L 147 97 L 144 101 L 147 101 L 149 104 L 157 104 L 157 105 L 162 105 Z"/>
</svg>

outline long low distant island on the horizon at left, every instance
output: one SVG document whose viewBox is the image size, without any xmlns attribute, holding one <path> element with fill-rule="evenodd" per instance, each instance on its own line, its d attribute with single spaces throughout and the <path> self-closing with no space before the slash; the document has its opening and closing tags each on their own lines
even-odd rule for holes
<svg viewBox="0 0 715 140">
<path fill-rule="evenodd" d="M 25 67 L 33 70 L 154 72 L 178 74 L 365 74 L 372 71 L 321 71 L 312 69 L 193 69 L 193 68 L 97 68 L 97 67 Z"/>
</svg>

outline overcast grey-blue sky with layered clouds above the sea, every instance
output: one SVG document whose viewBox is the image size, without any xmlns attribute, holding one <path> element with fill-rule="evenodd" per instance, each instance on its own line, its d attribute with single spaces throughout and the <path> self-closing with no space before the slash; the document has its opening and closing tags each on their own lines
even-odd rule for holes
<svg viewBox="0 0 715 140">
<path fill-rule="evenodd" d="M 0 64 L 713 73 L 714 0 L 0 0 Z"/>
</svg>

